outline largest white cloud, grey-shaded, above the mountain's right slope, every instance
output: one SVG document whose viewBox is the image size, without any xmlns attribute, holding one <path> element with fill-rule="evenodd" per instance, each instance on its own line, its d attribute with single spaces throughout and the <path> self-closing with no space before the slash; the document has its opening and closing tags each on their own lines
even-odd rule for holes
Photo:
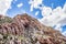
<svg viewBox="0 0 66 44">
<path fill-rule="evenodd" d="M 41 9 L 43 18 L 40 20 L 46 26 L 54 26 L 58 31 L 62 31 L 62 25 L 66 24 L 66 3 L 64 8 L 57 7 L 52 10 L 50 7 L 43 7 Z"/>
</svg>

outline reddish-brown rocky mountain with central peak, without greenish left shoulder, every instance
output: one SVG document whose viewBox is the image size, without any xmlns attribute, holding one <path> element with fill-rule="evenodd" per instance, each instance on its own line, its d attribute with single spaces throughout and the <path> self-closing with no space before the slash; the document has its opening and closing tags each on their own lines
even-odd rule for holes
<svg viewBox="0 0 66 44">
<path fill-rule="evenodd" d="M 66 37 L 24 13 L 0 24 L 0 44 L 66 44 Z"/>
</svg>

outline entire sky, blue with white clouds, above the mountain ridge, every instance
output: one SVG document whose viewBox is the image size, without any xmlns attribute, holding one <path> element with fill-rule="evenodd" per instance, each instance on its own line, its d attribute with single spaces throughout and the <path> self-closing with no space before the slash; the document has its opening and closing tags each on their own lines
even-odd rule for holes
<svg viewBox="0 0 66 44">
<path fill-rule="evenodd" d="M 28 13 L 42 24 L 55 26 L 54 29 L 66 35 L 66 0 L 1 0 L 0 2 L 2 3 L 0 13 L 2 11 L 2 14 L 6 13 L 11 18 Z"/>
</svg>

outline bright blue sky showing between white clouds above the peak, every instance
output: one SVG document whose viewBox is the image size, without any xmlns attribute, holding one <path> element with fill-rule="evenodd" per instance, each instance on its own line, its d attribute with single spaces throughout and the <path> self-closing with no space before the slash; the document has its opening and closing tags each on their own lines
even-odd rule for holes
<svg viewBox="0 0 66 44">
<path fill-rule="evenodd" d="M 18 13 L 23 13 L 23 11 L 25 11 L 26 13 L 29 13 L 31 15 L 34 15 L 36 11 L 40 11 L 38 15 L 37 16 L 34 15 L 34 16 L 35 18 L 42 18 L 40 9 L 34 9 L 33 12 L 30 11 L 29 1 L 30 0 L 16 0 L 16 1 L 13 0 L 12 3 L 11 3 L 12 9 L 9 9 L 7 13 L 9 14 L 9 16 L 14 16 Z M 55 9 L 56 7 L 62 7 L 63 8 L 65 2 L 66 2 L 66 0 L 43 0 L 43 4 L 46 6 L 46 7 L 52 8 L 52 3 L 53 3 L 52 9 Z M 23 3 L 24 6 L 22 6 L 21 8 L 18 8 L 16 6 L 19 3 Z M 40 6 L 42 6 L 42 4 L 40 4 Z"/>
</svg>

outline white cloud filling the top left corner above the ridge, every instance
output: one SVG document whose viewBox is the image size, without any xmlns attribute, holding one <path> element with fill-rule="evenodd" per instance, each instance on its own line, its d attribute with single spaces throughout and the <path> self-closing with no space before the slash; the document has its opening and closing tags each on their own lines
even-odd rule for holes
<svg viewBox="0 0 66 44">
<path fill-rule="evenodd" d="M 6 15 L 8 9 L 11 7 L 12 0 L 0 0 L 0 14 Z"/>
</svg>

